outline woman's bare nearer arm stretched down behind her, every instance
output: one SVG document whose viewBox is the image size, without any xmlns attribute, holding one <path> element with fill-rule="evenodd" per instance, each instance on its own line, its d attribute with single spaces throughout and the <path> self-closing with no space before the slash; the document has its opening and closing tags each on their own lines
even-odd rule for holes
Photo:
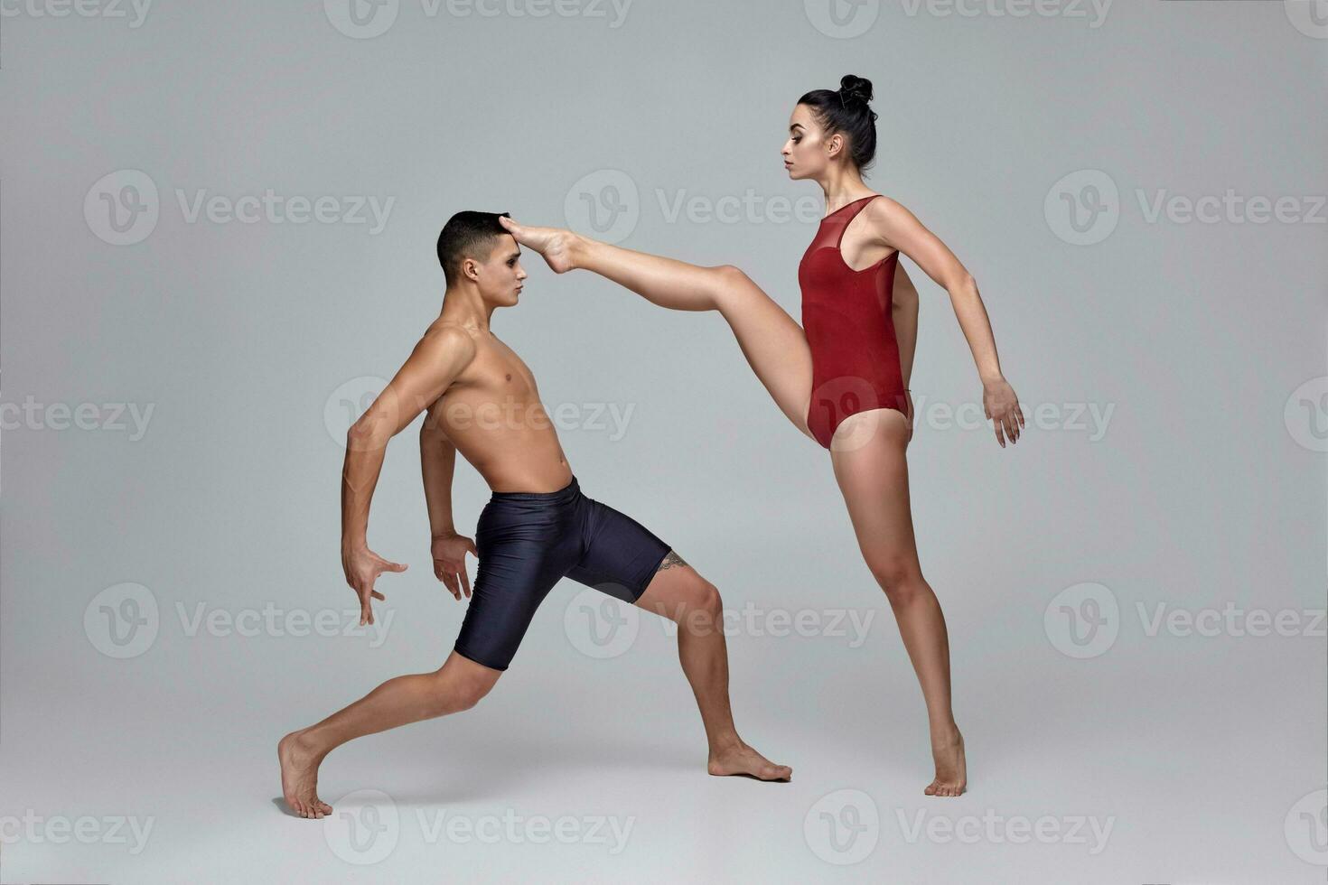
<svg viewBox="0 0 1328 885">
<path fill-rule="evenodd" d="M 996 425 L 996 442 L 1001 447 L 1005 446 L 1005 439 L 1016 442 L 1024 426 L 1024 413 L 1019 407 L 1015 389 L 1001 374 L 1000 360 L 996 357 L 996 338 L 992 334 L 987 308 L 977 293 L 976 280 L 935 234 L 888 196 L 871 200 L 862 214 L 867 215 L 872 231 L 886 245 L 907 255 L 923 273 L 950 293 L 955 317 L 977 365 L 977 375 L 983 382 L 983 407 Z M 911 349 L 908 361 L 911 369 Z"/>
</svg>

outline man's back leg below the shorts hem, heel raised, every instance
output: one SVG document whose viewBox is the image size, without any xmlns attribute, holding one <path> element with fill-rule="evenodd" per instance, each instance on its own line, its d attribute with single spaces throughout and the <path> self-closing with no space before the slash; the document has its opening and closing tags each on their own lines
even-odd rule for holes
<svg viewBox="0 0 1328 885">
<path fill-rule="evenodd" d="M 353 738 L 412 722 L 469 710 L 489 694 L 502 675 L 453 651 L 433 673 L 388 679 L 344 710 L 282 738 L 282 793 L 300 817 L 324 817 L 332 807 L 317 797 L 319 766 L 329 752 Z"/>
</svg>

